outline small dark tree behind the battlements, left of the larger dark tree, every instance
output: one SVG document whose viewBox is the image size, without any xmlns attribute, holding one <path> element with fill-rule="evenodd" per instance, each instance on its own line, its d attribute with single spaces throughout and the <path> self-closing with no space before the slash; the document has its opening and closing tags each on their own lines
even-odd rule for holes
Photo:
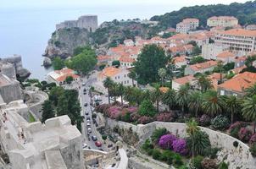
<svg viewBox="0 0 256 169">
<path fill-rule="evenodd" d="M 42 123 L 52 117 L 55 117 L 52 101 L 44 101 L 42 104 Z"/>
</svg>

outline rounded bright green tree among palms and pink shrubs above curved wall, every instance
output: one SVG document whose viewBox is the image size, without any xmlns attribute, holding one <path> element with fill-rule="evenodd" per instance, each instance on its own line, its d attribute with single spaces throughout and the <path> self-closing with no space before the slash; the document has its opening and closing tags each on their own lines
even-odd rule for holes
<svg viewBox="0 0 256 169">
<path fill-rule="evenodd" d="M 138 113 L 141 116 L 153 117 L 156 114 L 156 110 L 151 101 L 145 100 L 142 101 L 142 104 L 139 106 Z"/>
</svg>

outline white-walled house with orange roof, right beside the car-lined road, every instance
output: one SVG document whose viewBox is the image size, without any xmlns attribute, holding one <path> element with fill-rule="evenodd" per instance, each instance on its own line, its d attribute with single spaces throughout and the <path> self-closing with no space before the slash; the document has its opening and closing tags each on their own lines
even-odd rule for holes
<svg viewBox="0 0 256 169">
<path fill-rule="evenodd" d="M 129 78 L 128 74 L 130 71 L 124 68 L 108 67 L 104 68 L 102 72 L 97 74 L 97 82 L 94 84 L 96 90 L 100 92 L 107 92 L 103 86 L 103 81 L 109 77 L 117 84 L 123 84 L 125 86 L 132 85 L 132 79 Z M 135 85 L 136 82 L 134 81 Z"/>
</svg>

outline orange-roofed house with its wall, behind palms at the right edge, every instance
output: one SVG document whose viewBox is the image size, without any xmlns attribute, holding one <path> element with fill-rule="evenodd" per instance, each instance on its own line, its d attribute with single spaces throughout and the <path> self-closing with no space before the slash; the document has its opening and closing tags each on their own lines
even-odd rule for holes
<svg viewBox="0 0 256 169">
<path fill-rule="evenodd" d="M 241 97 L 245 95 L 245 90 L 256 83 L 256 74 L 244 72 L 237 74 L 232 79 L 226 80 L 223 84 L 218 85 L 220 95 L 235 95 Z"/>
</svg>

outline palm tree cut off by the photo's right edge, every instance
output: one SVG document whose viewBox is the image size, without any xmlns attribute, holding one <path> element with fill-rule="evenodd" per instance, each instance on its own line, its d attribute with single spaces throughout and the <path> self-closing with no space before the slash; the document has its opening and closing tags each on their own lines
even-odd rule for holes
<svg viewBox="0 0 256 169">
<path fill-rule="evenodd" d="M 256 95 L 253 95 L 253 97 L 247 97 L 243 100 L 242 116 L 250 121 L 253 121 L 253 133 L 255 134 Z"/>
</svg>

